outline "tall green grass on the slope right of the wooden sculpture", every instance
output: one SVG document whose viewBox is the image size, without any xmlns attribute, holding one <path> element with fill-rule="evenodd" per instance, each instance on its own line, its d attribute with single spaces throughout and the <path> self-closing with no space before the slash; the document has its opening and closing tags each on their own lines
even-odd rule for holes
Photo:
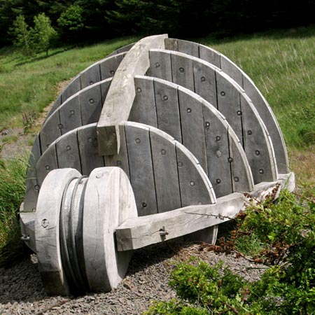
<svg viewBox="0 0 315 315">
<path fill-rule="evenodd" d="M 289 148 L 315 144 L 315 27 L 199 41 L 228 56 L 255 82 Z"/>
</svg>

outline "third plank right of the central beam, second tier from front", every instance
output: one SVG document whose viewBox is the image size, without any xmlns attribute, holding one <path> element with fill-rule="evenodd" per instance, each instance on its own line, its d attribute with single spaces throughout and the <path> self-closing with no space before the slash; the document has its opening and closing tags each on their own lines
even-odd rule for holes
<svg viewBox="0 0 315 315">
<path fill-rule="evenodd" d="M 182 144 L 195 155 L 204 171 L 208 172 L 202 102 L 197 95 L 179 87 Z"/>
</svg>

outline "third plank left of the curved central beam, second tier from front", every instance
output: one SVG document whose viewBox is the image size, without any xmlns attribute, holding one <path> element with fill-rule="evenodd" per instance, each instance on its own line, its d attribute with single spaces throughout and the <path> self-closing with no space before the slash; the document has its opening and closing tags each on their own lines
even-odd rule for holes
<svg viewBox="0 0 315 315">
<path fill-rule="evenodd" d="M 58 137 L 61 136 L 59 120 L 59 110 L 55 111 L 43 124 L 41 131 L 39 132 L 39 140 L 41 143 L 41 153 L 43 154 L 48 146 L 52 144 Z"/>
</svg>

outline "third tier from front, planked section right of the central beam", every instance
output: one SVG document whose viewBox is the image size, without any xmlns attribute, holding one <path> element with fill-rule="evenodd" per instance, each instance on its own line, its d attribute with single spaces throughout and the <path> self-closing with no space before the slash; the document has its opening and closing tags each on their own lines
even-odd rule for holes
<svg viewBox="0 0 315 315">
<path fill-rule="evenodd" d="M 153 49 L 150 51 L 151 76 L 172 81 L 196 92 L 214 106 L 228 120 L 241 139 L 251 166 L 255 183 L 277 178 L 276 160 L 272 141 L 265 124 L 244 90 L 228 75 L 209 62 L 181 52 Z M 170 64 L 166 72 L 156 63 Z"/>
</svg>

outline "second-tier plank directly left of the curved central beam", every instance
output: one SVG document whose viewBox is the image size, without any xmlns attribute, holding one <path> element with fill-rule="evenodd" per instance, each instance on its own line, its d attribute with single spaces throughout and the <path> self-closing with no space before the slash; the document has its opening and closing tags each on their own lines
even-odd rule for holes
<svg viewBox="0 0 315 315">
<path fill-rule="evenodd" d="M 97 123 L 102 111 L 102 94 L 99 83 L 91 85 L 86 90 L 81 90 L 78 94 L 80 103 L 82 125 Z"/>
</svg>

